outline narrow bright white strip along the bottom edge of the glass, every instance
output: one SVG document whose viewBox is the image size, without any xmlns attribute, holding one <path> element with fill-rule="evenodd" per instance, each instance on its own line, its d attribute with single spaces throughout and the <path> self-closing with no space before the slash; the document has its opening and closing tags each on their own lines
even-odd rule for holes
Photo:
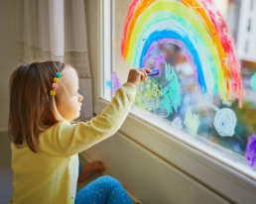
<svg viewBox="0 0 256 204">
<path fill-rule="evenodd" d="M 130 114 L 150 125 L 153 125 L 154 123 L 161 124 L 161 127 L 156 125 L 153 126 L 160 132 L 166 133 L 169 136 L 168 138 L 175 138 L 178 141 L 181 141 L 182 143 L 190 146 L 192 149 L 200 153 L 205 153 L 213 159 L 216 159 L 217 161 L 231 168 L 234 168 L 234 170 L 237 170 L 238 172 L 248 176 L 249 178 L 256 180 L 256 166 L 252 168 L 249 167 L 249 161 L 244 156 L 238 153 L 233 153 L 232 151 L 229 151 L 228 149 L 225 149 L 218 144 L 208 141 L 201 136 L 197 135 L 193 138 L 189 135 L 186 129 L 175 129 L 172 127 L 170 121 L 164 118 L 156 117 L 151 112 L 142 111 L 139 107 L 133 107 Z M 142 114 L 144 117 L 141 117 Z"/>
</svg>

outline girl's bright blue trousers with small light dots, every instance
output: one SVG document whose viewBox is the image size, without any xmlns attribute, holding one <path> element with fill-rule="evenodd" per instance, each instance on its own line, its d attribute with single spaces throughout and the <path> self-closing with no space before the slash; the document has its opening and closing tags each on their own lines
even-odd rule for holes
<svg viewBox="0 0 256 204">
<path fill-rule="evenodd" d="M 82 167 L 79 163 L 79 173 Z M 74 204 L 133 204 L 122 184 L 115 178 L 101 176 L 83 187 L 75 196 Z"/>
</svg>

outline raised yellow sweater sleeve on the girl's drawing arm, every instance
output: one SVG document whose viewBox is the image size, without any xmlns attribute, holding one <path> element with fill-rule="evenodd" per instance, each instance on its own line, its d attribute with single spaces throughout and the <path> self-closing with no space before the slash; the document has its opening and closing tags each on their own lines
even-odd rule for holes
<svg viewBox="0 0 256 204">
<path fill-rule="evenodd" d="M 86 123 L 62 124 L 58 146 L 65 155 L 80 153 L 115 134 L 127 117 L 135 100 L 136 87 L 125 83 L 101 112 Z"/>
</svg>

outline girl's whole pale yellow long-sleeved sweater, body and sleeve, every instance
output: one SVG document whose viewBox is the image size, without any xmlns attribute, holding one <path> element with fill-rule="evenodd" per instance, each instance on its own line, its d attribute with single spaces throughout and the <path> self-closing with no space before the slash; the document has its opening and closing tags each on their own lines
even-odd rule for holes
<svg viewBox="0 0 256 204">
<path fill-rule="evenodd" d="M 111 103 L 86 123 L 60 122 L 40 135 L 39 152 L 26 144 L 12 149 L 15 204 L 71 204 L 78 177 L 78 154 L 118 131 L 134 102 L 136 88 L 125 83 Z"/>
</svg>

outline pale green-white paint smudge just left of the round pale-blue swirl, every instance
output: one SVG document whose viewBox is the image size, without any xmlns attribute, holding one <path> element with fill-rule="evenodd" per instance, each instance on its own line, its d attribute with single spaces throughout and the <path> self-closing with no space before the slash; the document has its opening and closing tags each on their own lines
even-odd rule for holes
<svg viewBox="0 0 256 204">
<path fill-rule="evenodd" d="M 198 127 L 200 125 L 199 117 L 197 114 L 192 113 L 191 109 L 188 108 L 185 116 L 185 122 L 186 128 L 189 131 L 189 134 L 192 137 L 195 137 L 197 134 Z"/>
</svg>

